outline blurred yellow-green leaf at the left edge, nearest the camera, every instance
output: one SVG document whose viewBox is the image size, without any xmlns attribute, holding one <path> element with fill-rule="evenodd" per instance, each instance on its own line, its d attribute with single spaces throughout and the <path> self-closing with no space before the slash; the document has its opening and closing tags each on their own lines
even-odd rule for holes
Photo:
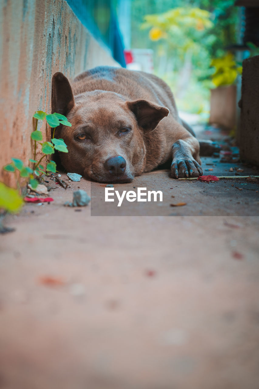
<svg viewBox="0 0 259 389">
<path fill-rule="evenodd" d="M 19 192 L 0 182 L 0 208 L 16 213 L 22 205 L 23 198 L 19 195 Z"/>
</svg>

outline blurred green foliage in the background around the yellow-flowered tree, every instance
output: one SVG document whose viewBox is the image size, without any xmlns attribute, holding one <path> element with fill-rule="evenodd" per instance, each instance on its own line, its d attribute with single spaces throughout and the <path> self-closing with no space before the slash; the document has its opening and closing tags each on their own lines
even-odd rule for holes
<svg viewBox="0 0 259 389">
<path fill-rule="evenodd" d="M 235 0 L 132 0 L 131 2 L 131 47 L 154 50 L 155 74 L 165 79 L 176 95 L 181 110 L 203 113 L 208 116 L 210 88 L 213 88 L 210 76 L 214 69 L 210 67 L 212 59 L 226 54 L 226 47 L 236 42 L 238 7 Z M 196 49 L 191 58 L 191 78 L 188 86 L 181 91 L 179 79 L 184 66 L 180 37 L 173 42 L 166 39 L 152 41 L 149 29 L 143 29 L 146 15 L 162 14 L 175 7 L 198 7 L 211 13 L 212 26 L 191 37 L 196 41 Z M 178 45 L 178 48 L 177 48 Z M 164 62 L 163 62 L 164 61 Z M 166 63 L 165 63 L 166 62 Z"/>
</svg>

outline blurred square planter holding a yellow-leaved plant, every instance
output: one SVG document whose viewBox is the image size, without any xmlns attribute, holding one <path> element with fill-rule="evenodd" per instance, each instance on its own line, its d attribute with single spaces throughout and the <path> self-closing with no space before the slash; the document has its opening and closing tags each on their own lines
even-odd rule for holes
<svg viewBox="0 0 259 389">
<path fill-rule="evenodd" d="M 210 123 L 228 130 L 236 126 L 236 78 L 242 74 L 232 53 L 211 62 L 215 67 L 212 82 L 215 85 L 210 95 Z"/>
</svg>

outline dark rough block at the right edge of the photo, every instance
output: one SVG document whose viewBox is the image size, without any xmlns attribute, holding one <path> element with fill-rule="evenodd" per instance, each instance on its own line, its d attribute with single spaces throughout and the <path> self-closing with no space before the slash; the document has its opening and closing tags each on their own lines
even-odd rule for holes
<svg viewBox="0 0 259 389">
<path fill-rule="evenodd" d="M 243 61 L 241 158 L 259 165 L 259 55 Z"/>
</svg>

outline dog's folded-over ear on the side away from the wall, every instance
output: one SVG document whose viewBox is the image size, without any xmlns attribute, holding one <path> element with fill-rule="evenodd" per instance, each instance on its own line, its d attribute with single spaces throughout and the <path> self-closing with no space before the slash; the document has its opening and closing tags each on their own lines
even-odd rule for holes
<svg viewBox="0 0 259 389">
<path fill-rule="evenodd" d="M 147 100 L 129 101 L 127 105 L 136 116 L 139 126 L 145 131 L 153 131 L 159 121 L 169 114 L 168 108 Z"/>
</svg>

